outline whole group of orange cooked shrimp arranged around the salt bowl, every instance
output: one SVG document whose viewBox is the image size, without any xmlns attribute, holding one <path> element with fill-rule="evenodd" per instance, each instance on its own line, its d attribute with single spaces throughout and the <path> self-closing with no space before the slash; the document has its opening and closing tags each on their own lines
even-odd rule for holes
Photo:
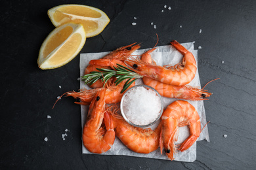
<svg viewBox="0 0 256 170">
<path fill-rule="evenodd" d="M 117 63 L 131 68 L 136 73 L 144 76 L 144 84 L 155 88 L 163 97 L 207 100 L 211 93 L 207 90 L 188 86 L 187 84 L 196 75 L 196 60 L 191 52 L 177 41 L 173 45 L 181 54 L 181 63 L 170 66 L 157 65 L 151 58 L 151 53 L 156 50 L 156 45 L 141 56 L 132 55 L 140 48 L 139 44 L 131 44 L 117 48 L 101 59 L 89 62 L 85 74 L 98 71 L 96 68 L 114 69 Z M 174 160 L 175 153 L 188 150 L 196 142 L 201 133 L 200 116 L 188 101 L 177 100 L 169 104 L 164 110 L 160 124 L 152 130 L 134 127 L 125 122 L 118 113 L 123 93 L 120 93 L 125 80 L 116 86 L 115 78 L 108 80 L 103 86 L 102 80 L 91 84 L 91 90 L 83 89 L 79 92 L 66 92 L 66 96 L 80 99 L 75 102 L 80 105 L 89 105 L 89 112 L 83 126 L 83 144 L 89 152 L 101 154 L 110 150 L 115 137 L 133 152 L 148 154 L 160 148 L 170 160 Z M 135 82 L 129 88 L 135 86 Z M 109 104 L 109 105 L 106 105 Z M 110 105 L 114 104 L 114 105 Z M 190 136 L 177 146 L 178 127 L 188 126 Z"/>
</svg>

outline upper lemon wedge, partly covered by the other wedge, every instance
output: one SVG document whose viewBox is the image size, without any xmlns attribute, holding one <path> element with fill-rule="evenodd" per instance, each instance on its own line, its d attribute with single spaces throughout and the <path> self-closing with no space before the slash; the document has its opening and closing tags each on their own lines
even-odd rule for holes
<svg viewBox="0 0 256 170">
<path fill-rule="evenodd" d="M 83 24 L 87 37 L 98 35 L 110 22 L 102 10 L 86 5 L 59 5 L 49 9 L 48 16 L 55 27 L 68 22 Z"/>
</svg>

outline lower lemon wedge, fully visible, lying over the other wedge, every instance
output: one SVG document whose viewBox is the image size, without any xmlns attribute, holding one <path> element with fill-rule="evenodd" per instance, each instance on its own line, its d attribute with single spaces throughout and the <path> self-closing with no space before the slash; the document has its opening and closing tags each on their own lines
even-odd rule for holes
<svg viewBox="0 0 256 170">
<path fill-rule="evenodd" d="M 55 69 L 71 61 L 86 41 L 83 25 L 68 23 L 56 27 L 43 41 L 37 63 L 40 69 Z"/>
</svg>

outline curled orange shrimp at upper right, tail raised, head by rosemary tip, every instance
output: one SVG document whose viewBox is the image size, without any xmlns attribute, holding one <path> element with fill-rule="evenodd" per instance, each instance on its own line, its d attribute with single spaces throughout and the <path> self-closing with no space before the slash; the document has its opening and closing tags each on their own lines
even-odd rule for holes
<svg viewBox="0 0 256 170">
<path fill-rule="evenodd" d="M 174 86 L 182 86 L 188 84 L 196 74 L 196 60 L 191 52 L 186 50 L 179 42 L 171 42 L 175 48 L 184 55 L 182 63 L 175 66 L 160 66 L 141 61 L 137 58 L 129 58 L 125 63 L 129 65 L 133 71 L 142 76 L 153 78 L 165 84 Z"/>
</svg>

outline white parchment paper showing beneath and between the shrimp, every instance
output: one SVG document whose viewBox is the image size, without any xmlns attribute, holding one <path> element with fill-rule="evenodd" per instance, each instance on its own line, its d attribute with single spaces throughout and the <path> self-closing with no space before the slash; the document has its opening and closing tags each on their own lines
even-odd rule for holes
<svg viewBox="0 0 256 170">
<path fill-rule="evenodd" d="M 182 44 L 186 49 L 188 49 L 192 54 L 194 55 L 196 62 L 198 62 L 198 50 L 194 50 L 194 42 L 188 42 Z M 142 49 L 137 50 L 133 54 L 142 54 L 148 49 Z M 84 75 L 85 68 L 88 66 L 88 63 L 91 59 L 99 59 L 108 54 L 109 52 L 100 52 L 100 53 L 87 53 L 87 54 L 80 54 L 80 75 Z M 158 46 L 158 48 L 152 52 L 152 58 L 156 61 L 158 65 L 175 65 L 182 61 L 182 55 L 173 47 L 173 46 Z M 142 79 L 136 81 L 136 84 L 143 84 Z M 198 69 L 196 72 L 195 78 L 189 83 L 190 86 L 196 86 L 201 87 L 200 85 L 200 78 L 198 74 Z M 87 88 L 89 87 L 84 84 L 82 80 L 80 80 L 80 88 Z M 171 99 L 167 97 L 163 97 L 163 103 L 164 103 L 164 109 L 173 101 L 177 99 Z M 206 124 L 206 117 L 205 117 L 205 109 L 203 105 L 203 101 L 188 101 L 190 104 L 192 104 L 196 110 L 198 111 L 198 114 L 200 115 L 201 120 L 201 128 L 205 126 Z M 82 128 L 85 124 L 85 119 L 87 116 L 89 106 L 81 105 L 81 124 Z M 159 122 L 158 122 L 159 123 Z M 158 124 L 155 124 L 151 128 L 154 129 Z M 182 143 L 187 137 L 189 136 L 189 130 L 188 127 L 179 127 L 179 137 L 177 144 Z M 209 142 L 209 133 L 207 126 L 203 129 L 202 133 L 200 134 L 200 137 L 198 138 L 198 141 L 201 140 L 207 140 Z M 82 144 L 82 151 L 83 154 L 92 154 L 89 152 L 85 146 Z M 162 160 L 169 160 L 167 156 L 165 155 L 165 152 L 163 152 L 163 155 L 161 155 L 160 148 L 158 150 L 155 150 L 154 152 L 151 152 L 150 154 L 139 154 L 136 152 L 133 152 L 129 150 L 119 139 L 116 137 L 115 142 L 110 150 L 108 152 L 103 153 L 104 155 L 125 155 L 125 156 L 137 156 L 137 157 L 145 157 L 145 158 L 154 158 L 154 159 L 162 159 Z M 175 161 L 195 161 L 196 160 L 196 143 L 194 143 L 188 150 L 185 150 L 184 152 L 177 152 L 174 156 Z"/>
</svg>

